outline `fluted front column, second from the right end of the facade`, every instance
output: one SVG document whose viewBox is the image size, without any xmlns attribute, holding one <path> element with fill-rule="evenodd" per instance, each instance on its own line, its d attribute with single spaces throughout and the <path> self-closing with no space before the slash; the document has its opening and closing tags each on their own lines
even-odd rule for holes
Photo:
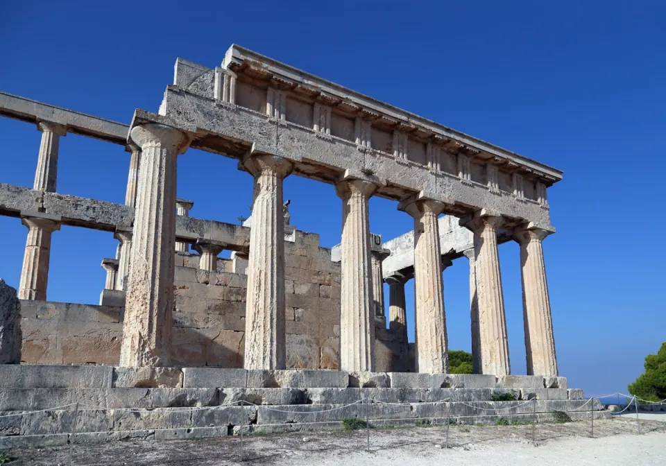
<svg viewBox="0 0 666 466">
<path fill-rule="evenodd" d="M 502 217 L 485 214 L 475 214 L 465 223 L 474 233 L 482 374 L 511 374 L 502 277 L 499 274 L 497 254 L 497 228 L 502 223 Z"/>
</svg>

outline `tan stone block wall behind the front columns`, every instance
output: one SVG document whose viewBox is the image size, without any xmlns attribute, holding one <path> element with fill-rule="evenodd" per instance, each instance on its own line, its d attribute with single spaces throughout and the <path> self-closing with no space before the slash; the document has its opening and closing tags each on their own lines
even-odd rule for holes
<svg viewBox="0 0 666 466">
<path fill-rule="evenodd" d="M 285 241 L 287 368 L 338 369 L 340 264 L 318 234 L 296 230 Z M 219 259 L 216 271 L 200 270 L 196 254 L 176 255 L 173 363 L 242 368 L 247 275 Z M 40 364 L 119 362 L 121 307 L 22 302 L 22 360 Z M 398 345 L 377 329 L 377 370 L 391 370 Z"/>
</svg>

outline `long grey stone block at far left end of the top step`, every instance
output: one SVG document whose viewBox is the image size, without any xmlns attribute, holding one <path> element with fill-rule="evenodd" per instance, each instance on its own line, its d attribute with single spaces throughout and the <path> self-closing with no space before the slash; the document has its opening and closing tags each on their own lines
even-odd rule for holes
<svg viewBox="0 0 666 466">
<path fill-rule="evenodd" d="M 102 365 L 0 365 L 0 389 L 111 388 L 112 377 Z"/>
</svg>

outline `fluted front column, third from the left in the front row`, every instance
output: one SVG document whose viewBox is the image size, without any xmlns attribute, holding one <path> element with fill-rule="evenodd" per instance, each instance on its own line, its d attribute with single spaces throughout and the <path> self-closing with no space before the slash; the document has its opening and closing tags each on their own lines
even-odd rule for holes
<svg viewBox="0 0 666 466">
<path fill-rule="evenodd" d="M 342 199 L 340 370 L 350 372 L 375 369 L 368 199 L 376 189 L 364 180 L 343 180 L 335 187 Z"/>
</svg>

